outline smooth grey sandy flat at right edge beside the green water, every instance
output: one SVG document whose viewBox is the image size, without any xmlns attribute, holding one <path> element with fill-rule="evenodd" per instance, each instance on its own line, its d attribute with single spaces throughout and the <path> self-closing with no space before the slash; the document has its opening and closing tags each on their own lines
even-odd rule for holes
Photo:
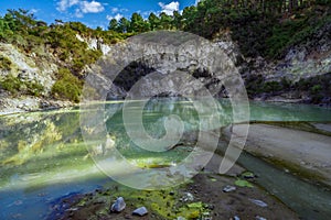
<svg viewBox="0 0 331 220">
<path fill-rule="evenodd" d="M 321 132 L 330 131 L 328 123 L 314 124 Z M 244 128 L 241 124 L 235 127 Z M 228 138 L 229 129 L 224 133 Z M 329 135 L 278 125 L 250 124 L 245 151 L 302 178 L 331 186 L 331 136 Z"/>
</svg>

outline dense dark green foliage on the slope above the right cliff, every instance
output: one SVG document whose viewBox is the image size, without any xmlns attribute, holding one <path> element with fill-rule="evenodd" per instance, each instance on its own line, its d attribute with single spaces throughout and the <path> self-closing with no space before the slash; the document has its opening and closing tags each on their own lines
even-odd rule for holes
<svg viewBox="0 0 331 220">
<path fill-rule="evenodd" d="M 330 23 L 330 6 L 325 1 L 204 0 L 183 10 L 181 28 L 206 38 L 228 30 L 245 56 L 278 58 Z"/>
</svg>

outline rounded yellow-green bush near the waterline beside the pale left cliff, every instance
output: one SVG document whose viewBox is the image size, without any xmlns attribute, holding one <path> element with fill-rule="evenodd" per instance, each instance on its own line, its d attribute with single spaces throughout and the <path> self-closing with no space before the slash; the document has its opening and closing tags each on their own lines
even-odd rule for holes
<svg viewBox="0 0 331 220">
<path fill-rule="evenodd" d="M 83 82 L 72 75 L 70 69 L 61 68 L 57 74 L 57 80 L 52 87 L 52 95 L 54 98 L 79 101 Z"/>
</svg>

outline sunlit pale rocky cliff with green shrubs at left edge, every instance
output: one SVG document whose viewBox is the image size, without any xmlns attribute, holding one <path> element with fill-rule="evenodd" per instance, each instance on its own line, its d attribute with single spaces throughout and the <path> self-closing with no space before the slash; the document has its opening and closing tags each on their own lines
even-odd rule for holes
<svg viewBox="0 0 331 220">
<path fill-rule="evenodd" d="M 8 64 L 7 68 L 0 69 L 1 113 L 31 111 L 49 106 L 62 107 L 60 102 L 49 100 L 57 73 L 55 58 L 51 54 L 46 57 L 28 55 L 11 44 L 0 43 L 0 57 Z M 29 92 L 23 96 L 17 94 L 32 90 L 33 85 L 41 88 L 38 97 Z"/>
</svg>

